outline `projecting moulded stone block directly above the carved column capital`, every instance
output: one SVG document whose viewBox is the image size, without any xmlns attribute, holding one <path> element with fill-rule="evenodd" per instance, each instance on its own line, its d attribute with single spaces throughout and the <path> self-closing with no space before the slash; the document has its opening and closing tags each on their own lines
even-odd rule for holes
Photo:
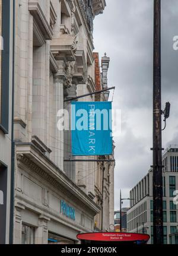
<svg viewBox="0 0 178 256">
<path fill-rule="evenodd" d="M 72 34 L 61 34 L 59 38 L 53 38 L 50 43 L 50 50 L 58 60 L 66 58 L 67 61 L 75 61 L 76 49 L 76 37 Z"/>
</svg>

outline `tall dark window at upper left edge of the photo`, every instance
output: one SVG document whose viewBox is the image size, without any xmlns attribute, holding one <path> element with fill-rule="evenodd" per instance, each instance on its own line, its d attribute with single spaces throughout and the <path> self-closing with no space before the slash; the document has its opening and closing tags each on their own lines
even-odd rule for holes
<svg viewBox="0 0 178 256">
<path fill-rule="evenodd" d="M 0 43 L 1 49 L 3 49 L 0 49 L 0 129 L 5 134 L 8 134 L 10 0 L 1 0 L 0 3 L 0 15 L 2 15 L 0 22 Z"/>
</svg>

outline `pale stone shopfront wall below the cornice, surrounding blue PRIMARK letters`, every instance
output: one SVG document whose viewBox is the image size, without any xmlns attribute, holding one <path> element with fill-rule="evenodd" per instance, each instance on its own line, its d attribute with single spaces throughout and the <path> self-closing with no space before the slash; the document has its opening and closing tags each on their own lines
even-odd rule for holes
<svg viewBox="0 0 178 256">
<path fill-rule="evenodd" d="M 93 219 L 84 208 L 72 200 L 68 194 L 50 187 L 38 175 L 32 175 L 30 169 L 18 168 L 16 179 L 14 244 L 21 244 L 23 223 L 34 226 L 35 244 L 47 244 L 47 232 L 65 236 L 77 241 L 77 233 L 90 232 Z M 60 200 L 65 200 L 75 208 L 75 221 L 63 216 Z M 81 225 L 81 214 L 84 225 Z"/>
</svg>

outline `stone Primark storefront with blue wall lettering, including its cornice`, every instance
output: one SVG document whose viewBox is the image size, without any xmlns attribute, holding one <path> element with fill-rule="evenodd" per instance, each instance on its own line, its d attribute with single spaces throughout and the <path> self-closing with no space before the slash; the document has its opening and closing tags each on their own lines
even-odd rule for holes
<svg viewBox="0 0 178 256">
<path fill-rule="evenodd" d="M 78 233 L 93 232 L 100 208 L 45 156 L 39 164 L 35 147 L 20 144 L 17 152 L 22 147 L 27 154 L 17 154 L 14 243 L 78 243 Z"/>
</svg>

